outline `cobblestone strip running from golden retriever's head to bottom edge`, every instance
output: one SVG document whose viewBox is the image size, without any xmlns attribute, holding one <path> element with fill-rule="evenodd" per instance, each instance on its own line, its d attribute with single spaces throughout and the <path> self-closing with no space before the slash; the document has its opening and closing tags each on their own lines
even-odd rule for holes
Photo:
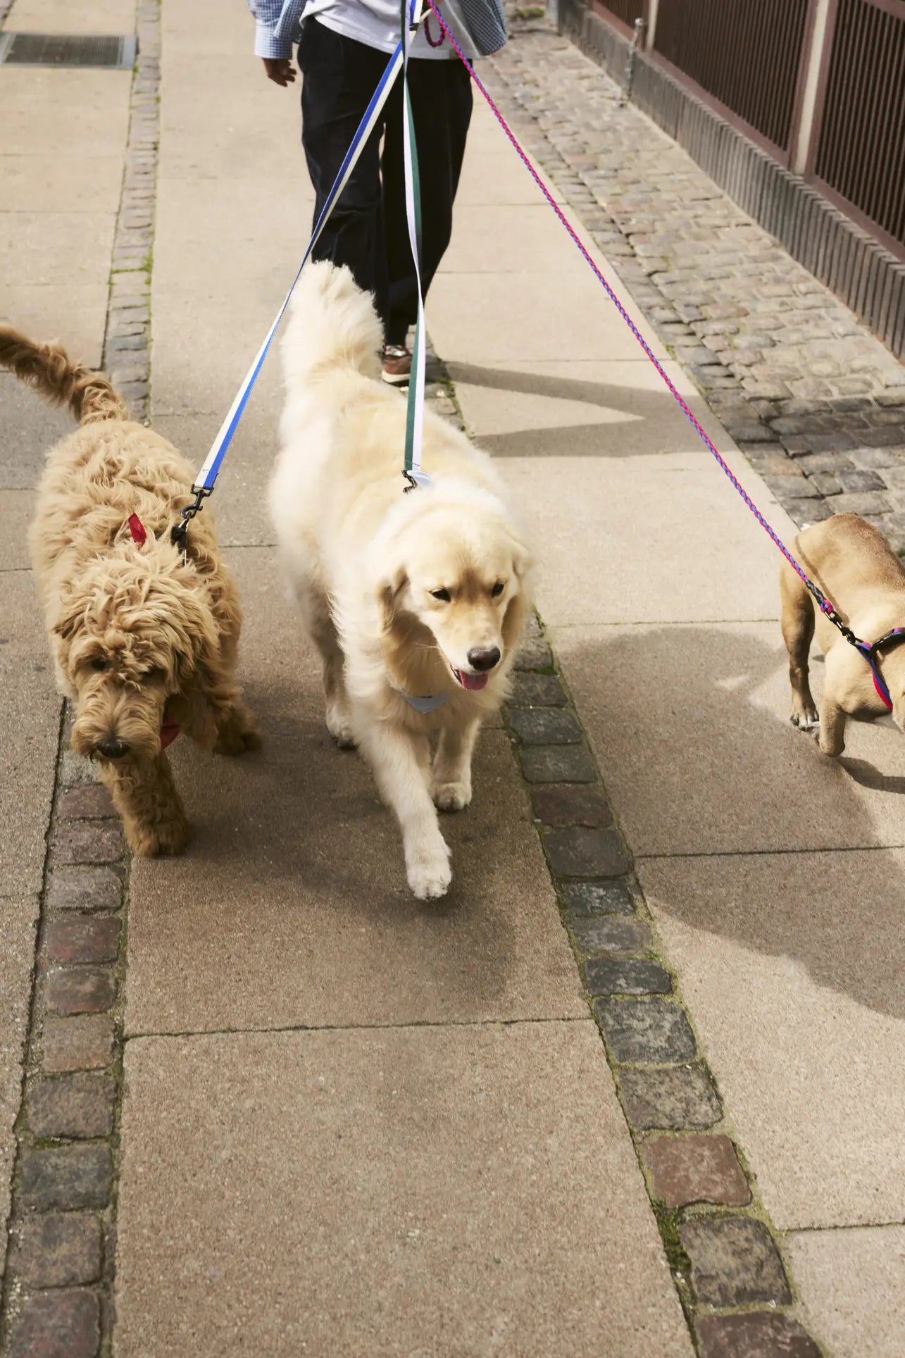
<svg viewBox="0 0 905 1358">
<path fill-rule="evenodd" d="M 537 619 L 507 721 L 701 1358 L 819 1358 Z"/>
</svg>

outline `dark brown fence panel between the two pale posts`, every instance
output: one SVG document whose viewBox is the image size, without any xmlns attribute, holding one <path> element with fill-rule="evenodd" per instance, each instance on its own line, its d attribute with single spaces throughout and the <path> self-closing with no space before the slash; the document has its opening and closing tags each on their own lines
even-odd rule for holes
<svg viewBox="0 0 905 1358">
<path fill-rule="evenodd" d="M 809 8 L 810 0 L 660 0 L 654 48 L 788 152 Z"/>
</svg>

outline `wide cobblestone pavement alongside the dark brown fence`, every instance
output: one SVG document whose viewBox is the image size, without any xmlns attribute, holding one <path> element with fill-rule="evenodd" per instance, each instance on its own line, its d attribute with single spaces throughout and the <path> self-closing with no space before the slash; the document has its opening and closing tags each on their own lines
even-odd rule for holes
<svg viewBox="0 0 905 1358">
<path fill-rule="evenodd" d="M 799 527 L 855 512 L 905 553 L 898 360 L 569 39 L 511 31 L 491 92 L 751 466 Z"/>
</svg>

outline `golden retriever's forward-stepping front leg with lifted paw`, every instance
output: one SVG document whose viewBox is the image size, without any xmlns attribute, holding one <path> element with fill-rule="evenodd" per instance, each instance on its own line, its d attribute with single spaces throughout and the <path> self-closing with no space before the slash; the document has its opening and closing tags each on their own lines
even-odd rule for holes
<svg viewBox="0 0 905 1358">
<path fill-rule="evenodd" d="M 378 790 L 400 822 L 409 887 L 419 900 L 443 896 L 452 873 L 424 775 L 429 767 L 427 736 L 372 720 L 361 721 L 357 735 Z"/>
</svg>

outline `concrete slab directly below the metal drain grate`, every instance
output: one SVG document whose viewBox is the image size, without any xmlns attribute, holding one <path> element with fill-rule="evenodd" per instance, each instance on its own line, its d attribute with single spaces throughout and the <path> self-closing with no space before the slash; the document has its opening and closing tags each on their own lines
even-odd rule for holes
<svg viewBox="0 0 905 1358">
<path fill-rule="evenodd" d="M 130 88 L 130 71 L 4 65 L 3 149 L 7 155 L 120 156 L 129 129 Z"/>
</svg>

